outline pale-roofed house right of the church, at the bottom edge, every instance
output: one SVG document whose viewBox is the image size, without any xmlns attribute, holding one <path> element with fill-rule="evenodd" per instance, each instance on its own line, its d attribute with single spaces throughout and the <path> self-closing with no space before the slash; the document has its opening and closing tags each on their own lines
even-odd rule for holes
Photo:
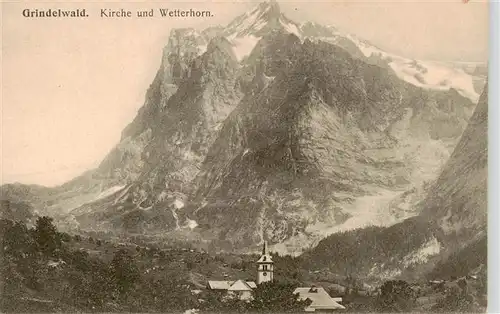
<svg viewBox="0 0 500 314">
<path fill-rule="evenodd" d="M 333 312 L 335 310 L 345 310 L 345 307 L 339 304 L 342 298 L 332 298 L 321 287 L 300 287 L 295 289 L 294 294 L 299 294 L 299 300 L 311 300 L 311 304 L 304 310 L 306 312 Z"/>
</svg>

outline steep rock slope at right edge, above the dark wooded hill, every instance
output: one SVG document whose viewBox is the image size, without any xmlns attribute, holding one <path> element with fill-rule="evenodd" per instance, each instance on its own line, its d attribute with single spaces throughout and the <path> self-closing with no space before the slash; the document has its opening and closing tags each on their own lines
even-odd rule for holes
<svg viewBox="0 0 500 314">
<path fill-rule="evenodd" d="M 466 244 L 486 235 L 488 182 L 488 85 L 460 141 L 422 203 L 422 215 L 447 236 Z"/>
</svg>

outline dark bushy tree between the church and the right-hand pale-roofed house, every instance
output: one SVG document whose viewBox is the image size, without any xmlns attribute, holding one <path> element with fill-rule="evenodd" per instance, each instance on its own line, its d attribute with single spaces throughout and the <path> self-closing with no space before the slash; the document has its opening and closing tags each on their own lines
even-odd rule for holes
<svg viewBox="0 0 500 314">
<path fill-rule="evenodd" d="M 250 308 L 259 312 L 302 312 L 310 300 L 299 300 L 294 294 L 295 285 L 281 282 L 265 282 L 253 290 Z"/>
</svg>

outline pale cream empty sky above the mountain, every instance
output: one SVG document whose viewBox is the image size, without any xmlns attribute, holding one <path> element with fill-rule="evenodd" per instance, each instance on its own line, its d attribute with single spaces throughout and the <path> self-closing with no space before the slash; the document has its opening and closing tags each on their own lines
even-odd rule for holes
<svg viewBox="0 0 500 314">
<path fill-rule="evenodd" d="M 259 2 L 259 1 L 257 1 Z M 172 28 L 225 25 L 256 2 L 2 2 L 0 183 L 54 186 L 98 166 L 143 105 Z M 427 60 L 486 61 L 485 1 L 280 2 L 289 18 L 335 25 Z M 26 19 L 86 8 L 87 19 Z M 211 10 L 211 18 L 112 19 L 100 9 Z"/>
</svg>

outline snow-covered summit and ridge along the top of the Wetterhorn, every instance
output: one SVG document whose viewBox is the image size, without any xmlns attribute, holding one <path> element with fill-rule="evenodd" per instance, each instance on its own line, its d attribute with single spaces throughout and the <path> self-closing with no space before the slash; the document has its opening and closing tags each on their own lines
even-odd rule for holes
<svg viewBox="0 0 500 314">
<path fill-rule="evenodd" d="M 340 46 L 351 55 L 391 69 L 400 79 L 424 89 L 454 89 L 476 103 L 479 98 L 481 71 L 470 70 L 463 65 L 447 62 L 413 60 L 384 51 L 352 34 L 339 31 L 335 26 L 315 22 L 296 23 L 288 19 L 279 4 L 271 0 L 256 5 L 252 10 L 236 17 L 226 27 L 212 30 L 228 39 L 238 62 L 250 55 L 259 40 L 271 31 L 279 29 L 295 34 L 301 40 L 325 41 Z M 199 55 L 206 51 L 213 36 L 210 32 L 198 33 L 193 29 L 173 30 L 165 58 L 174 52 Z M 484 66 L 483 66 L 484 67 Z M 477 73 L 476 73 L 477 72 Z"/>
</svg>

